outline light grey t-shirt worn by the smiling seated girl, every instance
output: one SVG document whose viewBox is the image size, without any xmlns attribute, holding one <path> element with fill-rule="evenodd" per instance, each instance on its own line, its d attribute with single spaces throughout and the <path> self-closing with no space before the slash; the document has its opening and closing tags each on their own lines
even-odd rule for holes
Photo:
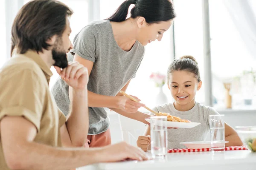
<svg viewBox="0 0 256 170">
<path fill-rule="evenodd" d="M 204 141 L 209 133 L 209 115 L 219 114 L 213 108 L 209 106 L 201 105 L 196 102 L 195 106 L 189 111 L 177 111 L 173 105 L 166 104 L 153 108 L 154 111 L 170 113 L 172 116 L 180 117 L 181 119 L 187 119 L 191 122 L 199 122 L 200 125 L 192 128 L 178 128 L 168 129 L 168 148 L 174 147 L 186 148 L 180 142 L 195 142 Z M 150 113 L 151 115 L 153 113 Z"/>
</svg>

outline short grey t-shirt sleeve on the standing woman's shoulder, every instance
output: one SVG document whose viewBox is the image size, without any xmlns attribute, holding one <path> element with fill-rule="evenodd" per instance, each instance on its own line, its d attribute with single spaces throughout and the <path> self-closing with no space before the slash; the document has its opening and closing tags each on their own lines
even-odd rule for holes
<svg viewBox="0 0 256 170">
<path fill-rule="evenodd" d="M 95 62 L 97 35 L 96 29 L 93 26 L 89 25 L 84 27 L 79 34 L 76 35 L 70 54 L 78 54 L 84 59 Z"/>
</svg>

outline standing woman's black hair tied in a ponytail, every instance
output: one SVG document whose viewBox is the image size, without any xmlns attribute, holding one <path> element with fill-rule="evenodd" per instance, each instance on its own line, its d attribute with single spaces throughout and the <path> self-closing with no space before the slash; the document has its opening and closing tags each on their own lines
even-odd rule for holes
<svg viewBox="0 0 256 170">
<path fill-rule="evenodd" d="M 131 4 L 131 18 L 144 17 L 148 24 L 169 21 L 176 17 L 170 0 L 125 0 L 106 20 L 122 22 L 126 19 Z"/>
</svg>

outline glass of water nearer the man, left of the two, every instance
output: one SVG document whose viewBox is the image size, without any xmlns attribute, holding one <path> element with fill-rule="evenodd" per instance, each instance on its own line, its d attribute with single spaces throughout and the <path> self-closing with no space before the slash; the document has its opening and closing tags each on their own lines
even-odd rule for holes
<svg viewBox="0 0 256 170">
<path fill-rule="evenodd" d="M 151 116 L 151 154 L 162 159 L 167 153 L 167 116 Z"/>
</svg>

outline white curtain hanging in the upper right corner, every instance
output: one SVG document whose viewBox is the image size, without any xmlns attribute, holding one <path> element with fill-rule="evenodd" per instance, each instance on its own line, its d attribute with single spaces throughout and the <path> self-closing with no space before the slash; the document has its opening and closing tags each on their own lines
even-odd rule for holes
<svg viewBox="0 0 256 170">
<path fill-rule="evenodd" d="M 223 0 L 250 54 L 256 59 L 256 9 L 252 0 Z"/>
</svg>

